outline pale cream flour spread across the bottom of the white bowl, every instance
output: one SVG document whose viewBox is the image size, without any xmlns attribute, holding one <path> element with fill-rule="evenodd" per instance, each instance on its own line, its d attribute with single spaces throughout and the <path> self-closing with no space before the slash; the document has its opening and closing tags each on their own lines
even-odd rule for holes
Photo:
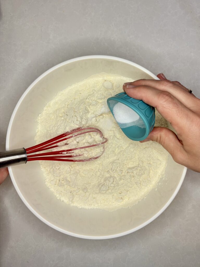
<svg viewBox="0 0 200 267">
<path fill-rule="evenodd" d="M 105 151 L 90 162 L 40 161 L 45 183 L 58 199 L 79 208 L 116 210 L 131 207 L 157 186 L 164 175 L 168 153 L 155 142 L 128 139 L 114 120 L 106 100 L 132 79 L 100 73 L 59 92 L 38 117 L 37 143 L 77 127 L 99 128 L 108 139 Z M 156 126 L 167 127 L 156 112 Z M 92 139 L 94 138 L 94 139 Z M 98 135 L 83 142 L 97 142 Z M 72 140 L 77 146 L 81 140 Z M 88 153 L 101 153 L 98 151 Z"/>
</svg>

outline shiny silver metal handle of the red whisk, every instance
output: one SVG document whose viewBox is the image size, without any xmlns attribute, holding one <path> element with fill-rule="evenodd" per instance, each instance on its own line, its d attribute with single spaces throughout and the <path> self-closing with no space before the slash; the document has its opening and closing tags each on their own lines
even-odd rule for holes
<svg viewBox="0 0 200 267">
<path fill-rule="evenodd" d="M 25 148 L 18 148 L 8 151 L 0 151 L 0 168 L 23 164 L 27 162 Z"/>
</svg>

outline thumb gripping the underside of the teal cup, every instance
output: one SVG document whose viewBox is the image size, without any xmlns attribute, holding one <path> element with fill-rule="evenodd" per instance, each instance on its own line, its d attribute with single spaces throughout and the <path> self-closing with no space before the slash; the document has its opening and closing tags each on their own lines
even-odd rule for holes
<svg viewBox="0 0 200 267">
<path fill-rule="evenodd" d="M 140 141 L 140 143 L 148 141 L 154 141 L 161 144 L 161 146 L 171 154 L 175 162 L 182 162 L 185 150 L 177 135 L 170 129 L 165 127 L 154 127 L 149 136 L 145 140 Z"/>
</svg>

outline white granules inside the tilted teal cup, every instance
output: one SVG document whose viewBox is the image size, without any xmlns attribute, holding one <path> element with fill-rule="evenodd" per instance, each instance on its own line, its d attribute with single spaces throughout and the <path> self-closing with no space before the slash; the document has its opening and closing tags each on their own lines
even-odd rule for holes
<svg viewBox="0 0 200 267">
<path fill-rule="evenodd" d="M 117 123 L 131 123 L 139 119 L 139 115 L 128 106 L 118 102 L 113 107 L 113 115 Z"/>
</svg>

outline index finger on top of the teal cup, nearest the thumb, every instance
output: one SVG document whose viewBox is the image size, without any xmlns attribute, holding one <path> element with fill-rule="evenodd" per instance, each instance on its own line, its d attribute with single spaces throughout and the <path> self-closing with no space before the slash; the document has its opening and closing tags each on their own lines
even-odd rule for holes
<svg viewBox="0 0 200 267">
<path fill-rule="evenodd" d="M 134 89 L 126 87 L 125 92 L 130 97 L 143 100 L 145 103 L 155 107 L 171 123 L 178 134 L 185 133 L 186 119 L 190 119 L 193 112 L 169 92 L 160 91 L 149 86 L 137 86 Z"/>
</svg>

